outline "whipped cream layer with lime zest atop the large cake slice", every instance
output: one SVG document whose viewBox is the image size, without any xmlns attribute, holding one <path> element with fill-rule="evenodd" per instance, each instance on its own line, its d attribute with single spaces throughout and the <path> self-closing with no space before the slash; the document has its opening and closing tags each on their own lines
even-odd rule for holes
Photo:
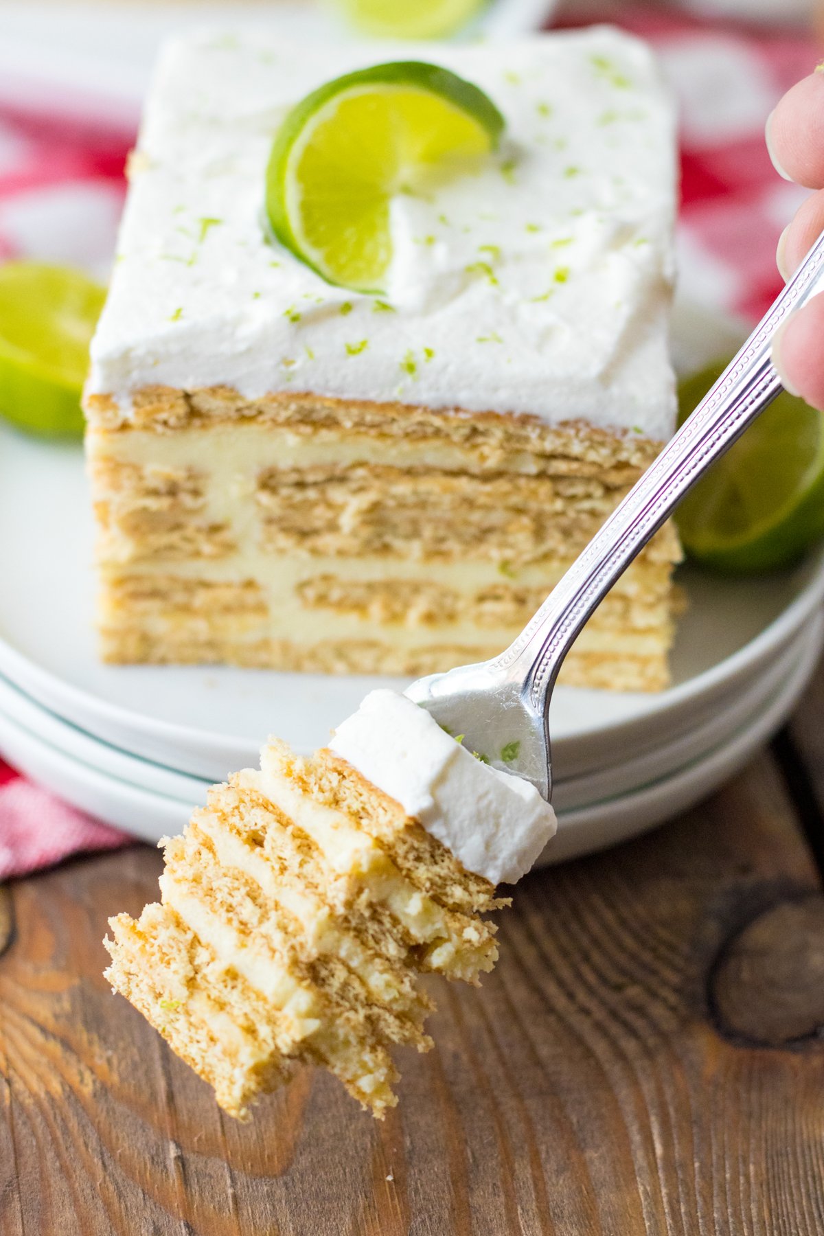
<svg viewBox="0 0 824 1236">
<path fill-rule="evenodd" d="M 385 295 L 358 295 L 264 241 L 269 148 L 322 82 L 415 57 L 478 84 L 507 131 L 477 174 L 397 198 Z M 222 384 L 672 433 L 673 110 L 635 38 L 188 36 L 162 54 L 131 182 L 89 381 L 124 409 L 142 386 Z"/>
</svg>

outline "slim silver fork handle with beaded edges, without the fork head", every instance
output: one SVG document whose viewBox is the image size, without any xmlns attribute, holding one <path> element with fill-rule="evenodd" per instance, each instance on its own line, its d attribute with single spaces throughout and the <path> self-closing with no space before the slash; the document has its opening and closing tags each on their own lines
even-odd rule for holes
<svg viewBox="0 0 824 1236">
<path fill-rule="evenodd" d="M 493 664 L 544 716 L 563 658 L 619 575 L 688 489 L 741 436 L 782 387 L 772 340 L 791 313 L 824 292 L 824 234 L 715 386 L 633 486 L 521 634 Z"/>
</svg>

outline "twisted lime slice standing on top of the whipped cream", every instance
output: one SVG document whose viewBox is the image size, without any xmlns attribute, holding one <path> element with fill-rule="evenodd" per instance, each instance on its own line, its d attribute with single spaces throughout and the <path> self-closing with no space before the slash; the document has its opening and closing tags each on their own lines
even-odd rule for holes
<svg viewBox="0 0 824 1236">
<path fill-rule="evenodd" d="M 336 78 L 299 103 L 274 140 L 266 177 L 272 231 L 329 283 L 380 292 L 393 195 L 476 167 L 503 127 L 483 90 L 434 64 L 377 64 Z"/>
</svg>

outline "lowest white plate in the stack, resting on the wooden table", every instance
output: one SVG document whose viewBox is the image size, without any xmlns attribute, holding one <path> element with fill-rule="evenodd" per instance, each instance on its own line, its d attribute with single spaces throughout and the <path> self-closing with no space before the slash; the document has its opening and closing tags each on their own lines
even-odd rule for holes
<svg viewBox="0 0 824 1236">
<path fill-rule="evenodd" d="M 810 646 L 771 705 L 704 759 L 634 794 L 561 812 L 558 834 L 539 863 L 558 863 L 626 840 L 705 797 L 781 726 L 809 681 L 817 659 L 818 649 Z M 146 840 L 179 832 L 188 819 L 191 805 L 89 768 L 32 734 L 2 711 L 0 753 L 63 798 Z"/>
</svg>

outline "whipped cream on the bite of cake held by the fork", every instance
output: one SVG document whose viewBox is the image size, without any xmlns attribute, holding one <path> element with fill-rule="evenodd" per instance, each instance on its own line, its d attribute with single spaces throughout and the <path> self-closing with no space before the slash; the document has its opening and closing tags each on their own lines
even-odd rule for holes
<svg viewBox="0 0 824 1236">
<path fill-rule="evenodd" d="M 397 691 L 369 692 L 329 745 L 492 884 L 520 880 L 556 832 L 534 785 L 482 764 Z"/>
</svg>

